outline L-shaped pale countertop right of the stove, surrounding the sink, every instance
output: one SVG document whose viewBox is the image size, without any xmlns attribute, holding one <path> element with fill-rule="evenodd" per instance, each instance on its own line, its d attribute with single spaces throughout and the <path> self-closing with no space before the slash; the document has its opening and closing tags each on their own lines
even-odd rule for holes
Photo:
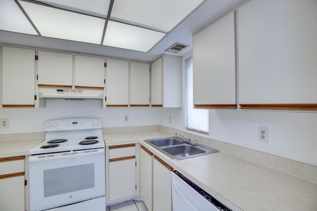
<svg viewBox="0 0 317 211">
<path fill-rule="evenodd" d="M 234 211 L 317 211 L 317 184 L 218 152 L 174 161 L 145 139 L 160 131 L 105 134 L 106 146 L 141 143 Z"/>
</svg>

